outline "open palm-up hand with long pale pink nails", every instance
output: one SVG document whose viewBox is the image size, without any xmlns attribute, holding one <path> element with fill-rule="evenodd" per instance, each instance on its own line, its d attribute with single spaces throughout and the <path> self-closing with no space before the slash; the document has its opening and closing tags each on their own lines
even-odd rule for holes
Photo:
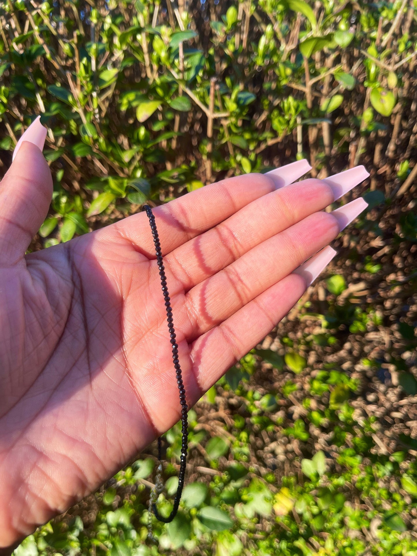
<svg viewBox="0 0 417 556">
<path fill-rule="evenodd" d="M 292 271 L 366 206 L 319 212 L 368 176 L 363 167 L 282 187 L 307 170 L 300 161 L 234 177 L 153 209 L 188 407 L 334 252 Z M 25 256 L 51 195 L 41 150 L 23 141 L 0 186 L 0 547 L 97 489 L 180 418 L 145 212 Z"/>
</svg>

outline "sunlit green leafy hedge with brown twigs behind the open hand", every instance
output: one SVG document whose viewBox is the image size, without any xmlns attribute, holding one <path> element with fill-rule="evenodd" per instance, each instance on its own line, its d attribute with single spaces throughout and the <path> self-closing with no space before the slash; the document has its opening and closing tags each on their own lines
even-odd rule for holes
<svg viewBox="0 0 417 556">
<path fill-rule="evenodd" d="M 190 411 L 187 486 L 158 545 L 150 446 L 16 556 L 417 555 L 416 9 L 0 2 L 0 172 L 34 117 L 48 126 L 53 202 L 31 250 L 296 158 L 312 176 L 371 172 L 342 199 L 369 210 L 337 260 Z M 178 426 L 166 441 L 172 494 Z"/>
</svg>

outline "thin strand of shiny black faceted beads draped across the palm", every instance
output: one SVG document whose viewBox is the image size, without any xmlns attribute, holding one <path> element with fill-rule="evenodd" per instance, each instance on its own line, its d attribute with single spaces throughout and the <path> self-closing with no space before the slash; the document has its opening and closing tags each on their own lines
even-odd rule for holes
<svg viewBox="0 0 417 556">
<path fill-rule="evenodd" d="M 168 330 L 170 331 L 171 336 L 171 344 L 172 344 L 172 359 L 173 364 L 175 367 L 175 373 L 177 376 L 177 385 L 178 390 L 180 391 L 180 404 L 181 404 L 181 423 L 182 423 L 182 446 L 181 446 L 181 459 L 180 459 L 180 472 L 178 473 L 178 489 L 177 494 L 175 495 L 175 499 L 173 502 L 172 512 L 167 518 L 164 518 L 157 510 L 156 504 L 153 503 L 153 513 L 155 517 L 163 523 L 170 523 L 173 518 L 175 518 L 178 506 L 180 505 L 182 489 L 184 486 L 184 476 L 185 476 L 185 467 L 187 462 L 187 449 L 188 449 L 188 420 L 187 420 L 187 402 L 185 399 L 185 388 L 182 383 L 182 373 L 181 373 L 181 366 L 180 360 L 178 359 L 178 344 L 176 343 L 176 335 L 175 330 L 173 327 L 173 320 L 172 320 L 172 308 L 170 303 L 170 295 L 168 294 L 168 288 L 166 285 L 166 275 L 165 275 L 165 267 L 163 266 L 162 260 L 162 252 L 161 252 L 161 244 L 159 241 L 158 232 L 156 230 L 155 224 L 155 216 L 153 216 L 151 207 L 149 205 L 143 205 L 143 210 L 146 211 L 148 216 L 152 236 L 153 236 L 153 243 L 155 244 L 155 251 L 156 251 L 156 260 L 158 262 L 158 269 L 159 274 L 161 276 L 161 285 L 162 285 L 162 292 L 163 296 L 165 297 L 165 306 L 166 306 L 166 314 L 167 314 L 167 321 L 168 321 Z M 158 459 L 161 461 L 161 437 L 158 438 Z"/>
</svg>

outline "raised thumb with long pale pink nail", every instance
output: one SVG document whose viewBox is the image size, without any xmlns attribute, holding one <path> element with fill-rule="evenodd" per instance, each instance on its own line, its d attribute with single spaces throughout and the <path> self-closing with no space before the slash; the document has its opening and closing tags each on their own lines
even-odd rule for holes
<svg viewBox="0 0 417 556">
<path fill-rule="evenodd" d="M 0 266 L 23 258 L 48 214 L 53 185 L 42 155 L 46 132 L 38 116 L 19 139 L 0 183 Z"/>
</svg>

